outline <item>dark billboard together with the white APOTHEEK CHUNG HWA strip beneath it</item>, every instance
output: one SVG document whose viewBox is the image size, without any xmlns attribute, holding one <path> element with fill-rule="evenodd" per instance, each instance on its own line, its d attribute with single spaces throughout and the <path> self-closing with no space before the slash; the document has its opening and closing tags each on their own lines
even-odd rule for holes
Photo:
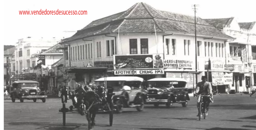
<svg viewBox="0 0 256 130">
<path fill-rule="evenodd" d="M 163 54 L 115 55 L 115 76 L 138 76 L 144 80 L 165 77 Z"/>
</svg>

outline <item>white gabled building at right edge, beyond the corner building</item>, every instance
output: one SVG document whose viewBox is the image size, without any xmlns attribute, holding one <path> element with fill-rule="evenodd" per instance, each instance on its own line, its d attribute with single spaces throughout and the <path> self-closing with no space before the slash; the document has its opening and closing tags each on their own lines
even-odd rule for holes
<svg viewBox="0 0 256 130">
<path fill-rule="evenodd" d="M 236 38 L 226 42 L 226 69 L 233 73 L 233 83 L 226 91 L 250 92 L 255 83 L 255 52 L 256 25 L 255 22 L 238 23 L 237 19 L 204 19 L 226 35 Z M 253 74 L 254 73 L 254 74 Z"/>
</svg>

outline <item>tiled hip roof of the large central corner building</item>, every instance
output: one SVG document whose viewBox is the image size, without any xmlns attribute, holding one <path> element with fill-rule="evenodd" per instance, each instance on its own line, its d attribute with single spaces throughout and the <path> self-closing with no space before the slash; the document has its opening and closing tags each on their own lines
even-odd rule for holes
<svg viewBox="0 0 256 130">
<path fill-rule="evenodd" d="M 118 33 L 118 28 L 120 33 L 154 32 L 154 25 L 157 32 L 194 34 L 194 22 L 194 16 L 160 11 L 146 3 L 136 3 L 124 12 L 91 22 L 83 29 L 78 30 L 72 37 L 64 39 L 61 43 L 64 44 L 92 36 Z M 197 21 L 197 34 L 234 39 L 201 18 L 198 18 Z"/>
</svg>

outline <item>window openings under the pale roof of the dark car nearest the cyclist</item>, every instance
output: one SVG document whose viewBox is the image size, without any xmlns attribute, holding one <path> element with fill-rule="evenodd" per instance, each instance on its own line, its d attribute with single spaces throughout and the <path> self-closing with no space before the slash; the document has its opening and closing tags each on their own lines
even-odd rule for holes
<svg viewBox="0 0 256 130">
<path fill-rule="evenodd" d="M 183 88 L 186 86 L 184 81 L 148 81 L 148 86 L 151 87 L 174 87 L 174 88 Z"/>
</svg>

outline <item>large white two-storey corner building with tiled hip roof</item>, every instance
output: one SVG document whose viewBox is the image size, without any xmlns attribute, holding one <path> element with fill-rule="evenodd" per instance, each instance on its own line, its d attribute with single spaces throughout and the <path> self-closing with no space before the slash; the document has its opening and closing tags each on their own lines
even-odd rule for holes
<svg viewBox="0 0 256 130">
<path fill-rule="evenodd" d="M 199 19 L 195 44 L 194 30 L 193 16 L 158 11 L 145 3 L 137 3 L 124 12 L 95 20 L 65 39 L 61 44 L 69 46 L 66 49 L 69 59 L 64 66 L 87 70 L 90 64 L 91 67 L 107 67 L 109 76 L 134 75 L 145 80 L 181 77 L 188 80 L 187 87 L 193 88 L 196 76 L 199 82 L 201 76 L 206 75 L 209 59 L 221 61 L 224 70 L 228 55 L 226 42 L 234 39 Z M 154 64 L 147 64 L 144 57 L 151 57 Z M 133 59 L 132 63 L 125 63 L 130 69 L 116 67 L 118 61 L 128 59 Z M 79 75 L 85 82 L 102 76 L 100 72 Z"/>
</svg>

